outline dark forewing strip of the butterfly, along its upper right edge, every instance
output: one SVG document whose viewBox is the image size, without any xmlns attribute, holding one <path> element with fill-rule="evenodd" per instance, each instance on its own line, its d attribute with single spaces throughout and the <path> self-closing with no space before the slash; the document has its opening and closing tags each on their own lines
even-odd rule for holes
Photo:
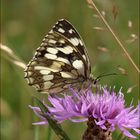
<svg viewBox="0 0 140 140">
<path fill-rule="evenodd" d="M 89 77 L 91 73 L 91 65 L 90 60 L 87 54 L 87 50 L 82 41 L 82 38 L 78 34 L 78 32 L 74 29 L 74 27 L 66 20 L 59 20 L 55 26 L 53 26 L 53 32 L 59 33 L 63 38 L 68 40 L 72 47 L 77 50 L 77 53 L 80 55 L 80 58 L 85 63 L 86 67 L 86 76 Z"/>
</svg>

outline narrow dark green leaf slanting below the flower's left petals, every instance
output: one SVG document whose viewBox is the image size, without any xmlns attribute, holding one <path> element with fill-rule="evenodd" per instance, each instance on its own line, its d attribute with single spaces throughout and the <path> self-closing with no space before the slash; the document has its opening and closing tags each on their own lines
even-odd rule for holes
<svg viewBox="0 0 140 140">
<path fill-rule="evenodd" d="M 58 124 L 54 119 L 52 119 L 50 116 L 46 115 L 49 110 L 46 108 L 46 106 L 36 97 L 34 97 L 35 102 L 40 107 L 43 116 L 47 119 L 49 125 L 54 130 L 56 135 L 60 138 L 60 140 L 70 140 L 70 138 L 67 136 L 65 131 L 62 129 L 61 125 Z"/>
</svg>

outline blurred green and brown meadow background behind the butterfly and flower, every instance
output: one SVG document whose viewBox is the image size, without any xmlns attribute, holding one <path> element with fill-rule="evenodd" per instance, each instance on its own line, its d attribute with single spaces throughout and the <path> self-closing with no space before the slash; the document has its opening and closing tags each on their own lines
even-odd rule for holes
<svg viewBox="0 0 140 140">
<path fill-rule="evenodd" d="M 139 66 L 139 40 L 135 38 L 139 33 L 139 0 L 95 2 L 99 9 L 105 12 L 107 21 Z M 25 63 L 32 58 L 36 48 L 58 19 L 69 20 L 86 44 L 93 75 L 126 73 L 125 76 L 102 78 L 100 83 L 115 85 L 116 91 L 122 87 L 126 105 L 129 105 L 132 99 L 134 104 L 137 104 L 139 75 L 111 33 L 106 29 L 94 29 L 105 26 L 96 12 L 88 7 L 86 0 L 1 0 L 1 12 L 1 43 L 10 47 Z M 132 92 L 127 93 L 128 88 L 132 89 Z M 33 105 L 32 95 L 36 93 L 27 85 L 23 70 L 12 64 L 6 54 L 1 53 L 2 140 L 35 140 L 35 137 L 40 140 L 47 139 L 47 126 L 32 126 L 36 118 L 28 105 Z M 66 121 L 63 127 L 72 140 L 77 140 L 81 139 L 86 123 Z M 35 129 L 39 131 L 38 136 L 35 136 Z M 52 139 L 57 139 L 55 134 Z"/>
</svg>

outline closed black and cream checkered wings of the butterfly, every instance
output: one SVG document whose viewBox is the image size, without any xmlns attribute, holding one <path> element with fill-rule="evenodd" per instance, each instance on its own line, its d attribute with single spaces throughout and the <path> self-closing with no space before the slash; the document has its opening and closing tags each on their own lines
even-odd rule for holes
<svg viewBox="0 0 140 140">
<path fill-rule="evenodd" d="M 90 75 L 90 61 L 83 42 L 66 20 L 59 20 L 45 36 L 25 69 L 28 84 L 43 93 L 59 93 L 77 86 Z"/>
</svg>

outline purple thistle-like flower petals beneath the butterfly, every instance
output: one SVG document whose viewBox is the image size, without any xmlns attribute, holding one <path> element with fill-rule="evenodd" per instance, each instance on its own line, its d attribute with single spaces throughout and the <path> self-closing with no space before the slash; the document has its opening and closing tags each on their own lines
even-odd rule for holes
<svg viewBox="0 0 140 140">
<path fill-rule="evenodd" d="M 116 94 L 106 87 L 101 88 L 96 93 L 91 90 L 76 92 L 70 88 L 71 95 L 63 97 L 48 96 L 52 106 L 45 104 L 58 123 L 65 120 L 72 122 L 85 122 L 92 119 L 96 126 L 102 130 L 113 132 L 118 127 L 125 136 L 136 138 L 129 130 L 140 133 L 140 104 L 134 108 L 132 105 L 125 107 L 124 95 L 121 90 Z M 41 118 L 41 122 L 36 125 L 47 124 L 39 107 L 30 106 Z M 48 113 L 47 113 L 48 115 Z"/>
</svg>

